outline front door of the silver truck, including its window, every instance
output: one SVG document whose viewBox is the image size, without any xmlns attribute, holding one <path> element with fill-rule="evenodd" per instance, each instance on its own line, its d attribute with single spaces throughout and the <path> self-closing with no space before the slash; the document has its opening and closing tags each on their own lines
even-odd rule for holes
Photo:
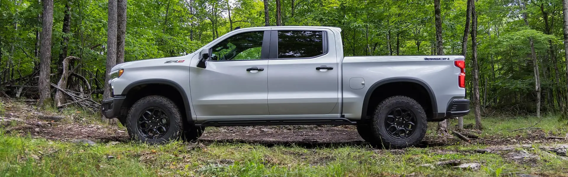
<svg viewBox="0 0 568 177">
<path fill-rule="evenodd" d="M 198 119 L 201 116 L 269 114 L 270 31 L 258 30 L 239 32 L 211 44 L 206 68 L 198 68 L 192 62 L 191 100 Z"/>
</svg>

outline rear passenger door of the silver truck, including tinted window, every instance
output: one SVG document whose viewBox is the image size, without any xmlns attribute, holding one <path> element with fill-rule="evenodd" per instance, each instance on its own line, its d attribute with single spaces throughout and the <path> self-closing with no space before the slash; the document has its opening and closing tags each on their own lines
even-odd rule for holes
<svg viewBox="0 0 568 177">
<path fill-rule="evenodd" d="M 273 28 L 274 29 L 274 28 Z M 339 113 L 339 76 L 332 31 L 278 28 L 268 61 L 270 115 Z"/>
</svg>

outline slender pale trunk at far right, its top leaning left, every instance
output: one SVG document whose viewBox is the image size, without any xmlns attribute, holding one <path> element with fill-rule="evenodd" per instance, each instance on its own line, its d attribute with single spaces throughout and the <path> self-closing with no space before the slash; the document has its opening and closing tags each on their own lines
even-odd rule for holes
<svg viewBox="0 0 568 177">
<path fill-rule="evenodd" d="M 519 6 L 521 6 L 521 10 L 526 10 L 524 1 L 519 1 Z M 523 12 L 523 19 L 525 21 L 525 26 L 530 28 L 527 12 Z M 534 51 L 534 41 L 532 37 L 529 38 L 529 44 L 531 45 L 531 58 L 533 62 L 534 92 L 536 92 L 536 116 L 540 117 L 540 72 L 538 72 L 538 61 L 536 59 L 536 52 Z"/>
</svg>

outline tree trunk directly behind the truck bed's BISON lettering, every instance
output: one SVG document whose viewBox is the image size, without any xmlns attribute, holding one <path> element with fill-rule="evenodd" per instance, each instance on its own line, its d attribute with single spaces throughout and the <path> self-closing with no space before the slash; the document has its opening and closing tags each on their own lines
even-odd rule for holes
<svg viewBox="0 0 568 177">
<path fill-rule="evenodd" d="M 434 0 L 434 16 L 436 21 L 436 53 L 444 54 L 444 45 L 442 43 L 442 18 L 440 10 L 440 0 Z M 448 120 L 438 122 L 438 136 L 450 136 L 448 133 Z"/>
</svg>

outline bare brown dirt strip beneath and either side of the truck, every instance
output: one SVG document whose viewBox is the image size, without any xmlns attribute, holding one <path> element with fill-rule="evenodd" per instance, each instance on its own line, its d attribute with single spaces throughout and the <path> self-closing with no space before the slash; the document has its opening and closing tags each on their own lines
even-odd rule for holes
<svg viewBox="0 0 568 177">
<path fill-rule="evenodd" d="M 88 139 L 92 141 L 129 141 L 126 129 L 115 126 L 103 126 L 81 123 L 79 115 L 64 116 L 62 120 L 45 119 L 52 113 L 36 112 L 27 104 L 5 104 L 4 117 L 20 119 L 20 123 L 4 127 L 7 132 L 19 133 L 22 136 L 46 138 L 48 140 L 71 141 Z M 43 118 L 42 118 L 43 117 Z M 83 119 L 84 120 L 84 119 Z M 458 138 L 440 140 L 438 137 L 426 136 L 419 147 L 448 146 L 460 142 L 467 144 L 511 145 L 532 144 L 534 142 L 561 142 L 566 140 L 546 137 L 542 130 L 531 131 L 527 137 L 487 137 L 484 140 L 463 142 Z M 256 127 L 208 127 L 199 139 L 202 143 L 211 142 L 243 142 L 265 145 L 360 145 L 365 144 L 354 126 L 341 125 L 297 125 L 297 126 L 256 126 Z"/>
</svg>

